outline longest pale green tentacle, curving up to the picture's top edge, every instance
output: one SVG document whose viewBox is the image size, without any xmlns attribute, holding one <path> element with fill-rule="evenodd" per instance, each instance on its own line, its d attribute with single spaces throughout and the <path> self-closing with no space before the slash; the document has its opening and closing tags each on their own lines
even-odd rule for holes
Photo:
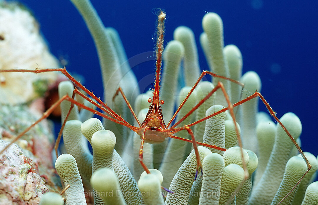
<svg viewBox="0 0 318 205">
<path fill-rule="evenodd" d="M 116 49 L 112 42 L 111 37 L 105 31 L 105 27 L 100 20 L 100 17 L 93 8 L 93 5 L 88 0 L 71 0 L 75 7 L 79 10 L 82 15 L 97 49 L 103 85 L 104 85 L 104 98 L 111 108 L 118 108 L 117 111 L 120 112 L 121 117 L 127 119 L 129 110 L 121 96 L 117 96 L 115 101 L 112 98 L 115 94 L 116 89 L 123 84 L 122 71 L 117 56 Z M 127 86 L 124 86 L 126 88 Z M 127 93 L 126 90 L 123 90 Z M 116 149 L 118 152 L 122 153 L 125 145 L 125 140 L 128 137 L 128 130 L 124 126 L 119 126 L 114 122 L 109 120 L 105 121 L 107 129 L 110 129 L 117 136 Z M 120 136 L 120 137 L 119 137 Z"/>
</svg>

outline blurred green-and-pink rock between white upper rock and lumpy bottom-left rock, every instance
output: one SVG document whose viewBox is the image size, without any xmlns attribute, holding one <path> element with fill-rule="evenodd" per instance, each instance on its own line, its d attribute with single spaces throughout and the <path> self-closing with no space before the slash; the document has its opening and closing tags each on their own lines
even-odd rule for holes
<svg viewBox="0 0 318 205">
<path fill-rule="evenodd" d="M 40 113 L 30 110 L 27 106 L 1 105 L 0 107 L 0 134 L 3 140 L 11 141 L 15 136 L 24 131 L 35 122 Z M 52 166 L 52 154 L 54 137 L 50 132 L 50 124 L 43 120 L 34 129 L 28 131 L 16 143 L 22 148 L 24 154 L 43 165 L 45 169 Z M 43 170 L 44 171 L 44 170 Z"/>
</svg>

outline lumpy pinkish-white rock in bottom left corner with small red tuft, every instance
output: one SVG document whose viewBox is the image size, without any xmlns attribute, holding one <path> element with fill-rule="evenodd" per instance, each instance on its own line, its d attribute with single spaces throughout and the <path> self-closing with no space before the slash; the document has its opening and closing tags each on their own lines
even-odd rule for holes
<svg viewBox="0 0 318 205">
<path fill-rule="evenodd" d="M 0 149 L 8 143 L 0 140 Z M 0 204 L 38 204 L 49 189 L 33 169 L 33 162 L 16 144 L 4 151 L 0 156 Z"/>
</svg>

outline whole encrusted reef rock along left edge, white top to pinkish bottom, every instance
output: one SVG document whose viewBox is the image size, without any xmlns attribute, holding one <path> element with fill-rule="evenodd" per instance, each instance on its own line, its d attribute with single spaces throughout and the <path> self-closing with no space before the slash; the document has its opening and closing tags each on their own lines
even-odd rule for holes
<svg viewBox="0 0 318 205">
<path fill-rule="evenodd" d="M 0 25 L 0 69 L 59 67 L 38 22 L 21 4 L 1 1 Z M 53 72 L 0 73 L 1 150 L 42 115 L 43 99 L 38 97 L 45 96 L 57 79 Z M 38 204 L 45 192 L 58 192 L 51 127 L 43 120 L 0 155 L 0 204 Z"/>
</svg>

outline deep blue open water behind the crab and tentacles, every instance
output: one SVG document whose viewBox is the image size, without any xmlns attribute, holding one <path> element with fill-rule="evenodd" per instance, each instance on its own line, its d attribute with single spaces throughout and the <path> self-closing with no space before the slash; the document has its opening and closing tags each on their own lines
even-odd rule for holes
<svg viewBox="0 0 318 205">
<path fill-rule="evenodd" d="M 65 0 L 23 0 L 38 19 L 51 52 L 67 60 L 67 69 L 85 76 L 85 86 L 102 96 L 99 62 L 93 40 L 78 11 Z M 154 51 L 156 16 L 167 13 L 165 40 L 180 25 L 196 37 L 201 69 L 208 69 L 199 35 L 207 12 L 216 12 L 224 24 L 225 45 L 235 44 L 243 56 L 243 73 L 256 71 L 261 93 L 277 116 L 294 112 L 302 122 L 302 149 L 318 154 L 317 136 L 317 1 L 97 1 L 92 0 L 105 26 L 121 36 L 128 58 Z M 154 73 L 154 61 L 134 68 L 138 80 Z M 144 91 L 144 90 L 142 90 Z M 260 110 L 266 111 L 260 103 Z"/>
</svg>

